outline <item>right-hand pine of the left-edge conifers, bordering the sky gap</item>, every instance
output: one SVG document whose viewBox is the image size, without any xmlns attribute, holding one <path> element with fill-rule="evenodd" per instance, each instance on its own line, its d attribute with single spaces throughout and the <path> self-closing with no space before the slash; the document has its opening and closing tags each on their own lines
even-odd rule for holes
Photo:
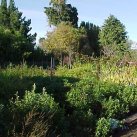
<svg viewBox="0 0 137 137">
<path fill-rule="evenodd" d="M 31 31 L 31 20 L 26 20 L 26 17 L 22 17 L 22 13 L 19 12 L 15 6 L 14 0 L 10 0 L 9 4 L 10 13 L 10 29 L 15 34 L 15 52 L 17 52 L 18 58 L 25 59 L 34 51 L 36 34 L 29 34 Z"/>
</svg>

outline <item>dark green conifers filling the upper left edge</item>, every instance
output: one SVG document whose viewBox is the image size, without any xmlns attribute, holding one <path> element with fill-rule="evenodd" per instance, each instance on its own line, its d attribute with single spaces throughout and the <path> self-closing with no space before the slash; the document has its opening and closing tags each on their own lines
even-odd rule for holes
<svg viewBox="0 0 137 137">
<path fill-rule="evenodd" d="M 30 34 L 31 20 L 22 17 L 14 0 L 1 1 L 0 5 L 0 58 L 3 62 L 19 62 L 28 59 L 34 51 L 36 34 Z"/>
</svg>

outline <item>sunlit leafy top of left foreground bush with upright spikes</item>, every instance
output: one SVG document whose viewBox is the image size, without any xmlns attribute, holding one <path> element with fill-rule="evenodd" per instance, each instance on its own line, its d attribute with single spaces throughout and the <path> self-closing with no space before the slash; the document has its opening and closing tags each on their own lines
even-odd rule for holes
<svg viewBox="0 0 137 137">
<path fill-rule="evenodd" d="M 54 103 L 54 99 L 50 97 L 45 91 L 41 94 L 36 94 L 35 89 L 36 85 L 33 85 L 32 91 L 26 91 L 24 98 L 19 99 L 18 94 L 16 94 L 15 101 L 11 100 L 12 111 L 23 111 L 26 113 L 30 109 L 41 110 L 42 112 L 54 112 L 58 109 L 57 104 Z"/>
</svg>

